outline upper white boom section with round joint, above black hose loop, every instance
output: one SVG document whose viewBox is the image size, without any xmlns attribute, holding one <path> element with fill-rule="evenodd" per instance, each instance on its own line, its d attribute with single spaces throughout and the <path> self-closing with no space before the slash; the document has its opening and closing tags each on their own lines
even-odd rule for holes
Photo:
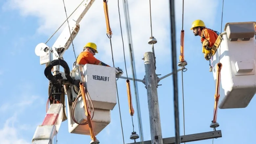
<svg viewBox="0 0 256 144">
<path fill-rule="evenodd" d="M 82 7 L 79 7 L 76 10 L 76 16 L 69 21 L 69 26 L 67 25 L 65 29 L 61 32 L 53 47 L 49 47 L 44 43 L 39 43 L 35 47 L 35 53 L 37 56 L 40 56 L 40 64 L 49 63 L 55 59 L 59 59 L 63 57 L 64 52 L 71 45 L 72 40 L 75 39 L 78 31 L 80 30 L 79 23 L 86 14 L 86 12 L 90 9 L 95 0 L 84 0 L 82 2 Z M 70 35 L 71 33 L 71 35 Z"/>
</svg>

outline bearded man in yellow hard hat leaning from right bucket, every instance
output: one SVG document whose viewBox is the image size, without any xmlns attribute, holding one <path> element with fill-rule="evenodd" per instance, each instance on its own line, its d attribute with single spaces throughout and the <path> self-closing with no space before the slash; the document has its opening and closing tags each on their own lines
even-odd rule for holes
<svg viewBox="0 0 256 144">
<path fill-rule="evenodd" d="M 204 58 L 210 60 L 213 53 L 211 50 L 218 38 L 219 32 L 206 28 L 202 20 L 195 20 L 190 30 L 193 30 L 195 36 L 201 36 Z"/>
</svg>

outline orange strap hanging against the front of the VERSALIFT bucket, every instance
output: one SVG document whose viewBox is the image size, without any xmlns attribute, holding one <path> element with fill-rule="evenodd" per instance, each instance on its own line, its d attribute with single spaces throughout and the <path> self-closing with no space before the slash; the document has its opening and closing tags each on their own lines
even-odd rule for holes
<svg viewBox="0 0 256 144">
<path fill-rule="evenodd" d="M 83 102 L 84 102 L 84 109 L 85 109 L 85 116 L 87 117 L 87 121 L 88 121 L 88 125 L 89 125 L 89 130 L 90 130 L 90 134 L 91 134 L 91 139 L 96 141 L 96 137 L 95 134 L 93 132 L 93 126 L 92 126 L 92 121 L 91 121 L 91 112 L 88 109 L 88 99 L 85 96 L 85 88 L 82 82 L 79 83 L 80 85 L 80 90 L 81 90 L 81 94 L 82 94 L 82 98 L 83 98 Z"/>
</svg>

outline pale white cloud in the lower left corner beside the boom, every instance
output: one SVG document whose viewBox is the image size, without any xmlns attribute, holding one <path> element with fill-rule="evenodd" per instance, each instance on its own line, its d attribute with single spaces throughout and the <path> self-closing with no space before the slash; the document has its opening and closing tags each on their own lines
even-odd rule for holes
<svg viewBox="0 0 256 144">
<path fill-rule="evenodd" d="M 26 110 L 35 108 L 35 105 L 40 104 L 41 98 L 39 96 L 28 96 L 27 94 L 23 94 L 24 92 L 21 91 L 19 97 L 16 97 L 15 101 L 12 99 L 10 99 L 10 101 L 5 100 L 5 103 L 1 104 L 0 113 L 3 116 L 0 120 L 3 125 L 0 127 L 0 139 L 3 144 L 31 143 L 28 141 L 28 136 L 25 135 L 25 133 L 34 131 L 36 126 L 34 125 L 34 122 L 28 121 L 28 119 L 25 118 L 28 118 L 28 116 L 31 115 L 30 112 Z M 25 111 L 26 113 L 24 113 Z M 32 138 L 32 136 L 29 137 L 29 139 Z"/>
</svg>

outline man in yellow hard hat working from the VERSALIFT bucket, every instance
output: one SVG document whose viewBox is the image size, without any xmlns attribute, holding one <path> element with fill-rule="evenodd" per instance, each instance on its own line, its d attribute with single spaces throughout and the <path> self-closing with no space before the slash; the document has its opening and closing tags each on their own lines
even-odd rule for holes
<svg viewBox="0 0 256 144">
<path fill-rule="evenodd" d="M 87 43 L 84 48 L 83 52 L 81 52 L 76 60 L 76 63 L 78 65 L 85 65 L 85 64 L 94 64 L 94 65 L 101 65 L 101 66 L 107 66 L 109 65 L 103 63 L 102 61 L 96 59 L 94 55 L 98 53 L 97 51 L 97 45 L 95 43 L 89 42 Z M 121 76 L 123 74 L 122 69 L 116 68 L 116 74 Z"/>
</svg>

